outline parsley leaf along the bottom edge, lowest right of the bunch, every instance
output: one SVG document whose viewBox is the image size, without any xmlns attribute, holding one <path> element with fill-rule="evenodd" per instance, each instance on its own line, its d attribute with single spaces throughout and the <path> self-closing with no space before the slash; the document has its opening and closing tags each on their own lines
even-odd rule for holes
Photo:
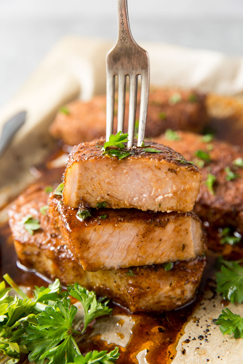
<svg viewBox="0 0 243 364">
<path fill-rule="evenodd" d="M 76 356 L 74 359 L 74 364 L 111 364 L 115 363 L 115 361 L 119 357 L 118 348 L 107 353 L 107 351 L 100 351 L 97 350 L 93 352 L 89 352 L 84 356 L 79 355 Z M 73 364 L 73 363 L 67 363 Z"/>
</svg>

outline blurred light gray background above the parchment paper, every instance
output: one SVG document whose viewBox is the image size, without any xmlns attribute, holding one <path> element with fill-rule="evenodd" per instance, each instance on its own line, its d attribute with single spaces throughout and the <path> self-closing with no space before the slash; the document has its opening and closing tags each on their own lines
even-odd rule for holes
<svg viewBox="0 0 243 364">
<path fill-rule="evenodd" d="M 117 37 L 116 0 L 0 0 L 0 107 L 65 35 Z M 128 0 L 134 38 L 243 55 L 243 0 Z"/>
</svg>

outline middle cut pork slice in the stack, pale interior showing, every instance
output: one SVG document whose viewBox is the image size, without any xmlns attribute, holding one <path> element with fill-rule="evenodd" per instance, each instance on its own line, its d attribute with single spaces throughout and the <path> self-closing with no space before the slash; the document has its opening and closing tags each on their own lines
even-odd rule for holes
<svg viewBox="0 0 243 364">
<path fill-rule="evenodd" d="M 91 209 L 80 221 L 51 194 L 48 215 L 85 270 L 117 269 L 194 259 L 203 254 L 201 222 L 193 212 Z"/>
</svg>

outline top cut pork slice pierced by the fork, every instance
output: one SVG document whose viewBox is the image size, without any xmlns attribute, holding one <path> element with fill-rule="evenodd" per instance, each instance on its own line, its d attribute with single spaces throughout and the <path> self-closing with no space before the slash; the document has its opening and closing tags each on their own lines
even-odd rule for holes
<svg viewBox="0 0 243 364">
<path fill-rule="evenodd" d="M 78 207 L 81 198 L 96 207 L 191 211 L 201 183 L 196 166 L 179 153 L 154 142 L 124 148 L 123 159 L 102 155 L 105 140 L 73 147 L 64 173 L 63 202 Z M 146 146 L 160 151 L 151 153 Z"/>
</svg>

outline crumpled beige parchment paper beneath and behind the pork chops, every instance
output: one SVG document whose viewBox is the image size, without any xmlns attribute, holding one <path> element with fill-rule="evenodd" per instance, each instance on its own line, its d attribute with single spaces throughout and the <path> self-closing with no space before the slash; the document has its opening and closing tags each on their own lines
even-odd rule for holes
<svg viewBox="0 0 243 364">
<path fill-rule="evenodd" d="M 243 57 L 230 58 L 218 52 L 191 50 L 160 43 L 140 42 L 150 56 L 150 84 L 195 88 L 203 92 L 215 92 L 223 95 L 243 94 Z M 105 93 L 105 55 L 113 46 L 110 42 L 97 39 L 66 37 L 61 40 L 42 61 L 21 90 L 0 111 L 0 131 L 3 124 L 20 110 L 28 112 L 25 125 L 15 135 L 11 145 L 0 159 L 0 205 L 33 181 L 33 169 L 30 167 L 43 160 L 44 155 L 53 146 L 53 139 L 48 135 L 48 126 L 56 111 L 64 103 L 81 98 L 87 100 L 94 94 Z M 35 173 L 34 173 L 35 174 Z M 3 214 L 0 216 L 3 219 Z M 177 355 L 173 364 L 242 363 L 243 340 L 224 336 L 212 319 L 219 316 L 221 298 L 208 300 L 204 296 L 201 305 L 193 314 L 200 320 L 197 327 L 190 320 L 185 333 L 177 345 Z M 215 308 L 213 307 L 215 304 Z M 204 307 L 206 309 L 204 309 Z M 243 315 L 242 305 L 229 305 L 234 313 Z M 119 320 L 120 317 L 113 318 Z M 106 320 L 106 319 L 104 319 Z M 102 340 L 126 346 L 133 327 L 132 317 L 127 320 L 123 343 L 117 342 L 112 327 L 102 320 L 95 324 L 95 330 L 102 333 Z M 102 326 L 103 325 L 103 326 Z M 113 326 L 112 326 L 113 325 Z M 209 326 L 208 326 L 209 325 Z M 210 329 L 208 342 L 185 339 L 202 335 Z M 204 335 L 204 334 L 203 334 Z M 139 364 L 147 363 L 146 349 L 137 355 Z M 181 352 L 186 350 L 187 355 Z M 152 364 L 152 363 L 150 363 Z"/>
</svg>

